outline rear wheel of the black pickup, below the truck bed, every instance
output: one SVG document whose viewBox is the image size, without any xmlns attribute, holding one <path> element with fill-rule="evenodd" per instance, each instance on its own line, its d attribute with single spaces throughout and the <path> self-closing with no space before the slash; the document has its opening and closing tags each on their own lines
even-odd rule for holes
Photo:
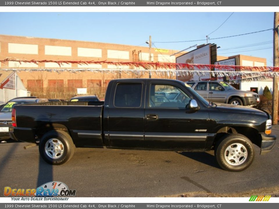
<svg viewBox="0 0 279 209">
<path fill-rule="evenodd" d="M 69 161 L 74 154 L 74 149 L 75 145 L 71 136 L 61 130 L 47 132 L 39 143 L 40 155 L 44 161 L 52 165 L 61 165 Z"/>
</svg>

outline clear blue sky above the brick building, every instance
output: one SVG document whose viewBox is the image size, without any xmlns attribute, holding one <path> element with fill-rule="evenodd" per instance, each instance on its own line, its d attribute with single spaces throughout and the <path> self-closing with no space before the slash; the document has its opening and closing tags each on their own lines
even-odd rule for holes
<svg viewBox="0 0 279 209">
<path fill-rule="evenodd" d="M 205 39 L 232 12 L 1 12 L 0 34 L 71 39 L 183 50 L 206 41 L 156 43 Z M 210 38 L 273 28 L 273 12 L 234 12 Z M 273 31 L 210 40 L 218 55 L 264 57 L 273 65 Z M 192 48 L 194 49 L 194 48 Z"/>
</svg>

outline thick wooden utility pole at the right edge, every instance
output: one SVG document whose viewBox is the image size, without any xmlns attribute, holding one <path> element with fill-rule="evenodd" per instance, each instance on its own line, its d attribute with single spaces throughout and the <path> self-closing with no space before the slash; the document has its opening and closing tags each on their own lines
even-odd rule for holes
<svg viewBox="0 0 279 209">
<path fill-rule="evenodd" d="M 274 29 L 273 29 L 273 66 L 278 67 L 278 26 L 279 12 L 274 12 Z M 273 101 L 272 101 L 272 124 L 278 124 L 278 76 L 273 77 Z"/>
</svg>

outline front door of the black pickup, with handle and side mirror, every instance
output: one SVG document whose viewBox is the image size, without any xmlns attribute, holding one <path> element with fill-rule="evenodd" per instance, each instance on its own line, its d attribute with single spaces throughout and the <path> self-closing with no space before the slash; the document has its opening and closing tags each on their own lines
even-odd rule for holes
<svg viewBox="0 0 279 209">
<path fill-rule="evenodd" d="M 146 149 L 203 150 L 208 138 L 207 108 L 196 100 L 200 109 L 186 107 L 195 95 L 184 83 L 147 80 L 144 113 L 144 141 Z M 176 101 L 158 100 L 157 91 L 179 91 L 184 98 Z"/>
</svg>

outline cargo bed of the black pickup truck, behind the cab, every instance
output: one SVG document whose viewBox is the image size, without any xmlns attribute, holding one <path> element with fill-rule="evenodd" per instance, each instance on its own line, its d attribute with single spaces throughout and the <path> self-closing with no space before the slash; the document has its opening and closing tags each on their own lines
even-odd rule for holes
<svg viewBox="0 0 279 209">
<path fill-rule="evenodd" d="M 99 104 L 98 106 L 93 106 Z M 103 102 L 44 102 L 17 105 L 18 140 L 35 143 L 46 129 L 69 133 L 76 147 L 103 147 Z M 28 140 L 26 140 L 28 139 Z"/>
</svg>

